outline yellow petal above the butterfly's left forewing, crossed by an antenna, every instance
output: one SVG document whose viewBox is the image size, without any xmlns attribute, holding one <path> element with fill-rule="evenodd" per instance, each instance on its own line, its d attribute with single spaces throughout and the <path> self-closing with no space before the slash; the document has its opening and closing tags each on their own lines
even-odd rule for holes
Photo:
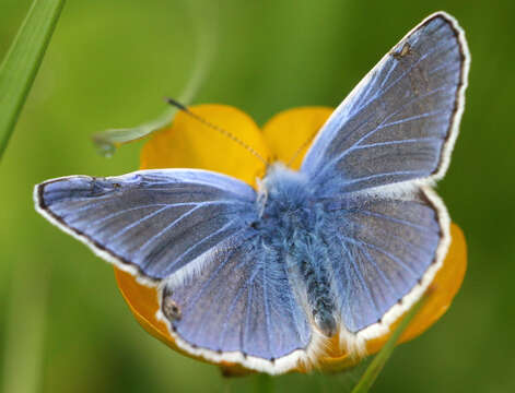
<svg viewBox="0 0 515 393">
<path fill-rule="evenodd" d="M 270 159 L 262 133 L 243 111 L 226 105 L 188 108 L 210 124 L 230 132 Z M 179 111 L 171 127 L 155 133 L 141 151 L 141 169 L 201 168 L 234 176 L 256 186 L 266 165 L 248 150 L 187 112 Z"/>
</svg>

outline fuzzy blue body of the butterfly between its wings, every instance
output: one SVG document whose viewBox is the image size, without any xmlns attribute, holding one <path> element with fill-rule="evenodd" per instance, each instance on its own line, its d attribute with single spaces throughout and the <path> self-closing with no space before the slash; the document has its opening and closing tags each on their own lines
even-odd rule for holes
<svg viewBox="0 0 515 393">
<path fill-rule="evenodd" d="M 261 184 L 259 218 L 253 226 L 260 231 L 267 252 L 284 264 L 308 318 L 330 337 L 336 334 L 337 322 L 323 236 L 328 215 L 321 203 L 314 202 L 314 192 L 303 174 L 279 164 L 272 166 Z"/>
</svg>

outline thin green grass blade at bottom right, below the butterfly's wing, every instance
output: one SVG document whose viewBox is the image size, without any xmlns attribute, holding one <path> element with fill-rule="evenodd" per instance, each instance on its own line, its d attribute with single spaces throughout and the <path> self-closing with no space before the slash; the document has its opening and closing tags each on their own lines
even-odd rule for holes
<svg viewBox="0 0 515 393">
<path fill-rule="evenodd" d="M 366 393 L 370 391 L 375 380 L 379 376 L 381 371 L 385 367 L 386 362 L 388 361 L 389 357 L 391 356 L 397 341 L 399 340 L 406 327 L 408 327 L 409 323 L 413 320 L 414 315 L 417 315 L 417 313 L 419 312 L 429 296 L 431 295 L 423 295 L 422 298 L 418 302 L 415 302 L 414 306 L 402 318 L 402 321 L 400 321 L 399 325 L 388 338 L 386 344 L 383 346 L 381 352 L 376 355 L 374 360 L 371 361 L 370 366 L 366 368 L 360 381 L 352 390 L 352 393 Z"/>
</svg>

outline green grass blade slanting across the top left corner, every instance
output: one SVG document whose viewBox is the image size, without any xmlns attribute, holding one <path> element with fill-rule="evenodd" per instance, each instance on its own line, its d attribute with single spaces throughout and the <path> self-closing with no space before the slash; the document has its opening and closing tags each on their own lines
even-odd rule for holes
<svg viewBox="0 0 515 393">
<path fill-rule="evenodd" d="M 36 76 L 65 0 L 34 0 L 0 66 L 0 159 Z"/>
</svg>

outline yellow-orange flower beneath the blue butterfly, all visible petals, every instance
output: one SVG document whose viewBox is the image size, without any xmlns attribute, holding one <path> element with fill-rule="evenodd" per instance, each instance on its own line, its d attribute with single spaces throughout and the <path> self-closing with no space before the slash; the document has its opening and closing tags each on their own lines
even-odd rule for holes
<svg viewBox="0 0 515 393">
<path fill-rule="evenodd" d="M 299 146 L 315 134 L 332 112 L 332 108 L 326 107 L 291 109 L 274 116 L 260 130 L 247 115 L 230 106 L 200 105 L 191 107 L 190 110 L 230 131 L 265 159 L 283 162 L 294 156 Z M 292 164 L 293 168 L 300 167 L 305 150 L 307 146 L 295 158 Z M 239 178 L 253 187 L 256 187 L 256 179 L 262 177 L 266 169 L 262 162 L 251 156 L 237 143 L 184 112 L 176 116 L 169 128 L 154 134 L 141 152 L 141 169 L 171 167 L 216 170 Z M 400 342 L 417 337 L 436 322 L 450 306 L 461 285 L 467 265 L 465 238 L 455 224 L 450 226 L 450 236 L 452 245 L 447 257 L 430 286 L 432 295 L 411 321 Z M 175 345 L 166 325 L 155 318 L 159 309 L 157 291 L 138 284 L 128 273 L 116 269 L 115 273 L 119 289 L 139 323 L 153 336 L 175 350 L 184 353 Z M 395 330 L 397 322 L 390 331 Z M 367 353 L 378 352 L 388 336 L 389 333 L 368 341 Z M 321 370 L 342 370 L 360 360 L 349 357 L 344 350 L 340 349 L 338 337 L 335 337 L 332 344 L 324 357 L 318 359 Z M 220 366 L 232 374 L 247 371 L 239 365 Z M 307 370 L 299 366 L 296 371 L 306 372 Z"/>
</svg>

